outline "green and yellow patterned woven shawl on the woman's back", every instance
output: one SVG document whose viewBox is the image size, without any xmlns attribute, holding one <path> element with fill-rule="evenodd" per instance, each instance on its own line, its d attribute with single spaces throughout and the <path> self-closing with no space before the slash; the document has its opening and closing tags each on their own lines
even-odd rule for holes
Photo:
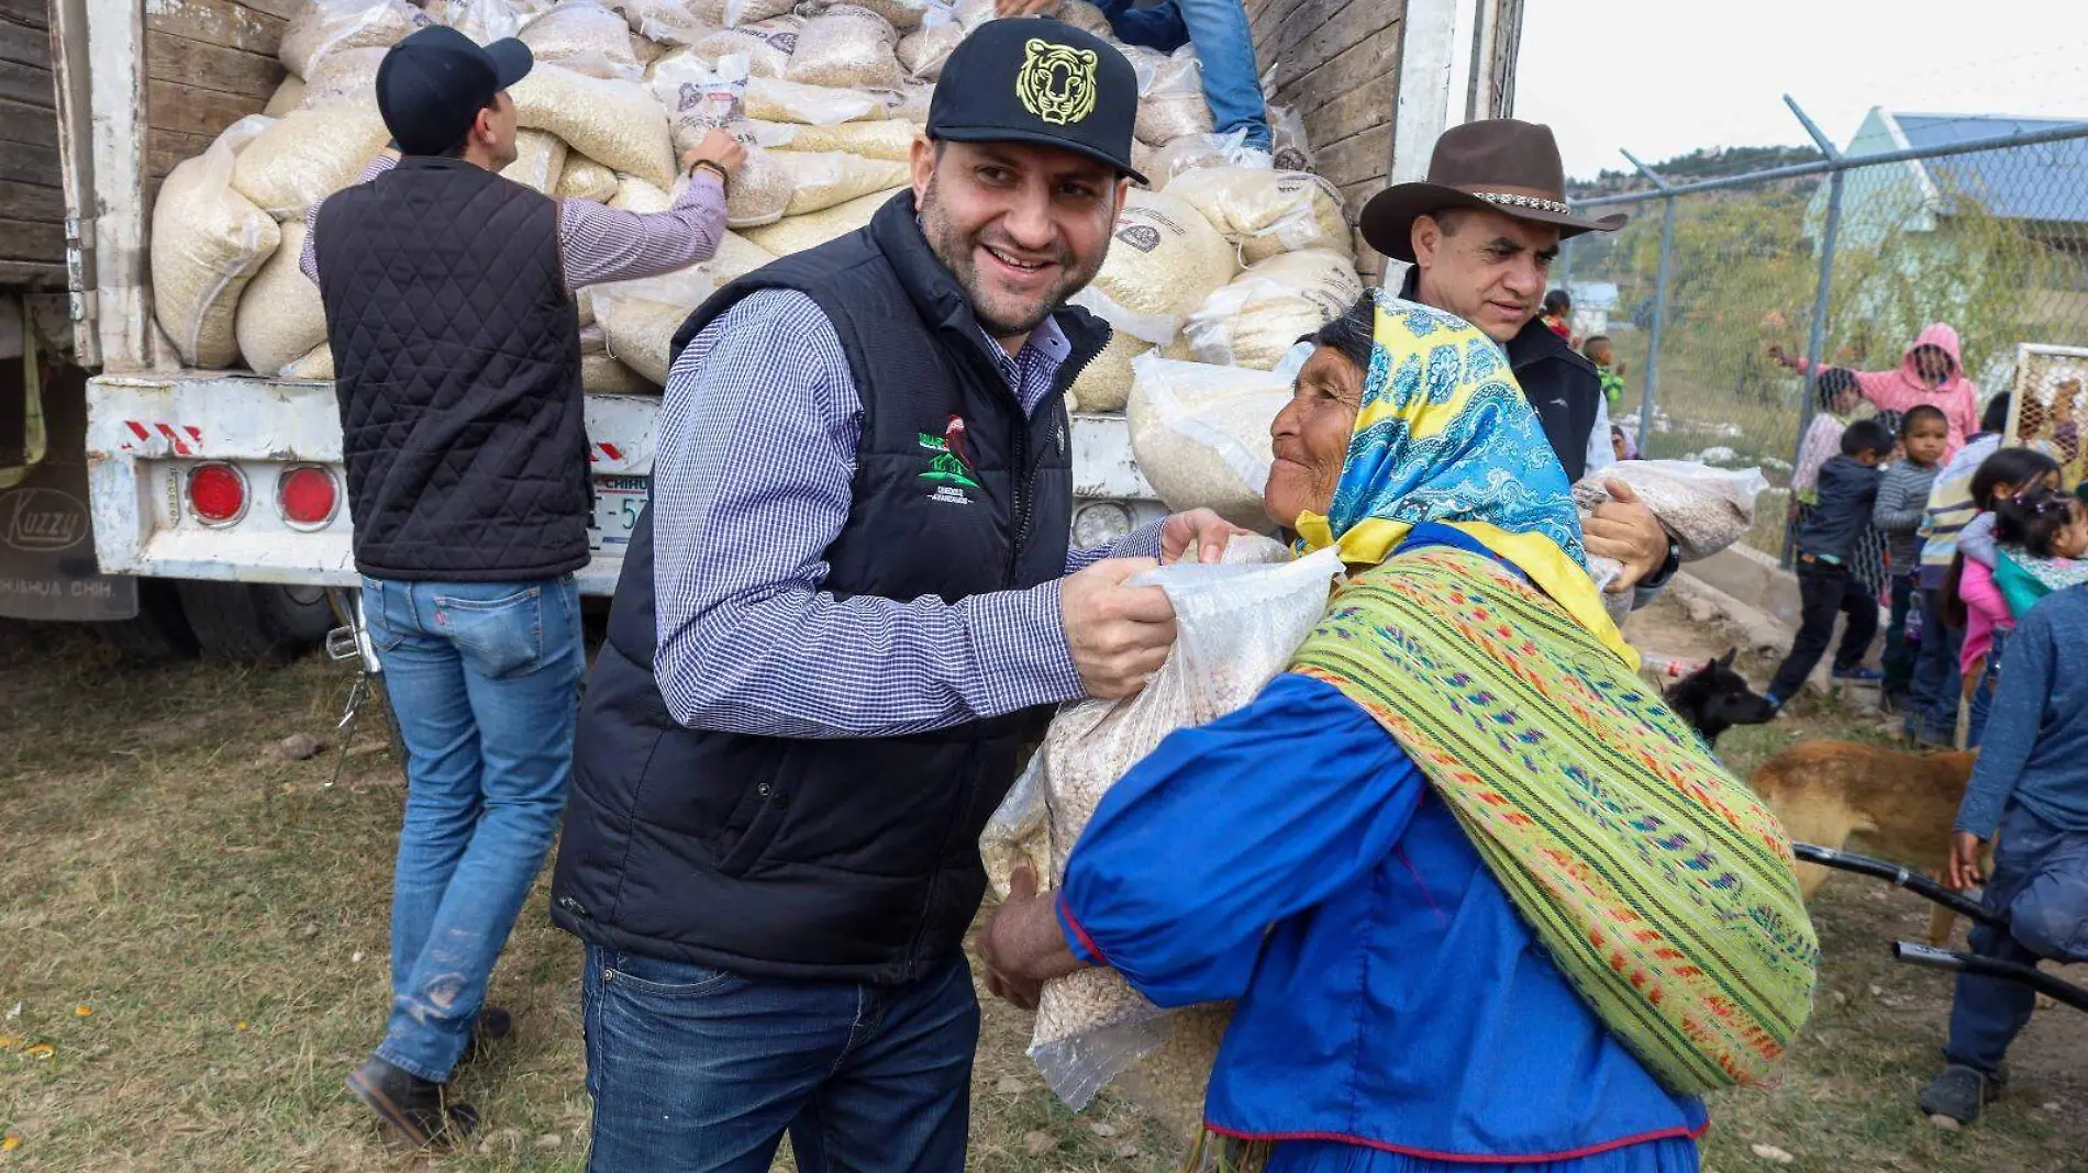
<svg viewBox="0 0 2088 1173">
<path fill-rule="evenodd" d="M 1750 1083 L 1798 1035 L 1819 943 L 1783 829 L 1558 603 L 1468 551 L 1397 555 L 1292 670 L 1384 724 L 1664 1085 Z"/>
</svg>

